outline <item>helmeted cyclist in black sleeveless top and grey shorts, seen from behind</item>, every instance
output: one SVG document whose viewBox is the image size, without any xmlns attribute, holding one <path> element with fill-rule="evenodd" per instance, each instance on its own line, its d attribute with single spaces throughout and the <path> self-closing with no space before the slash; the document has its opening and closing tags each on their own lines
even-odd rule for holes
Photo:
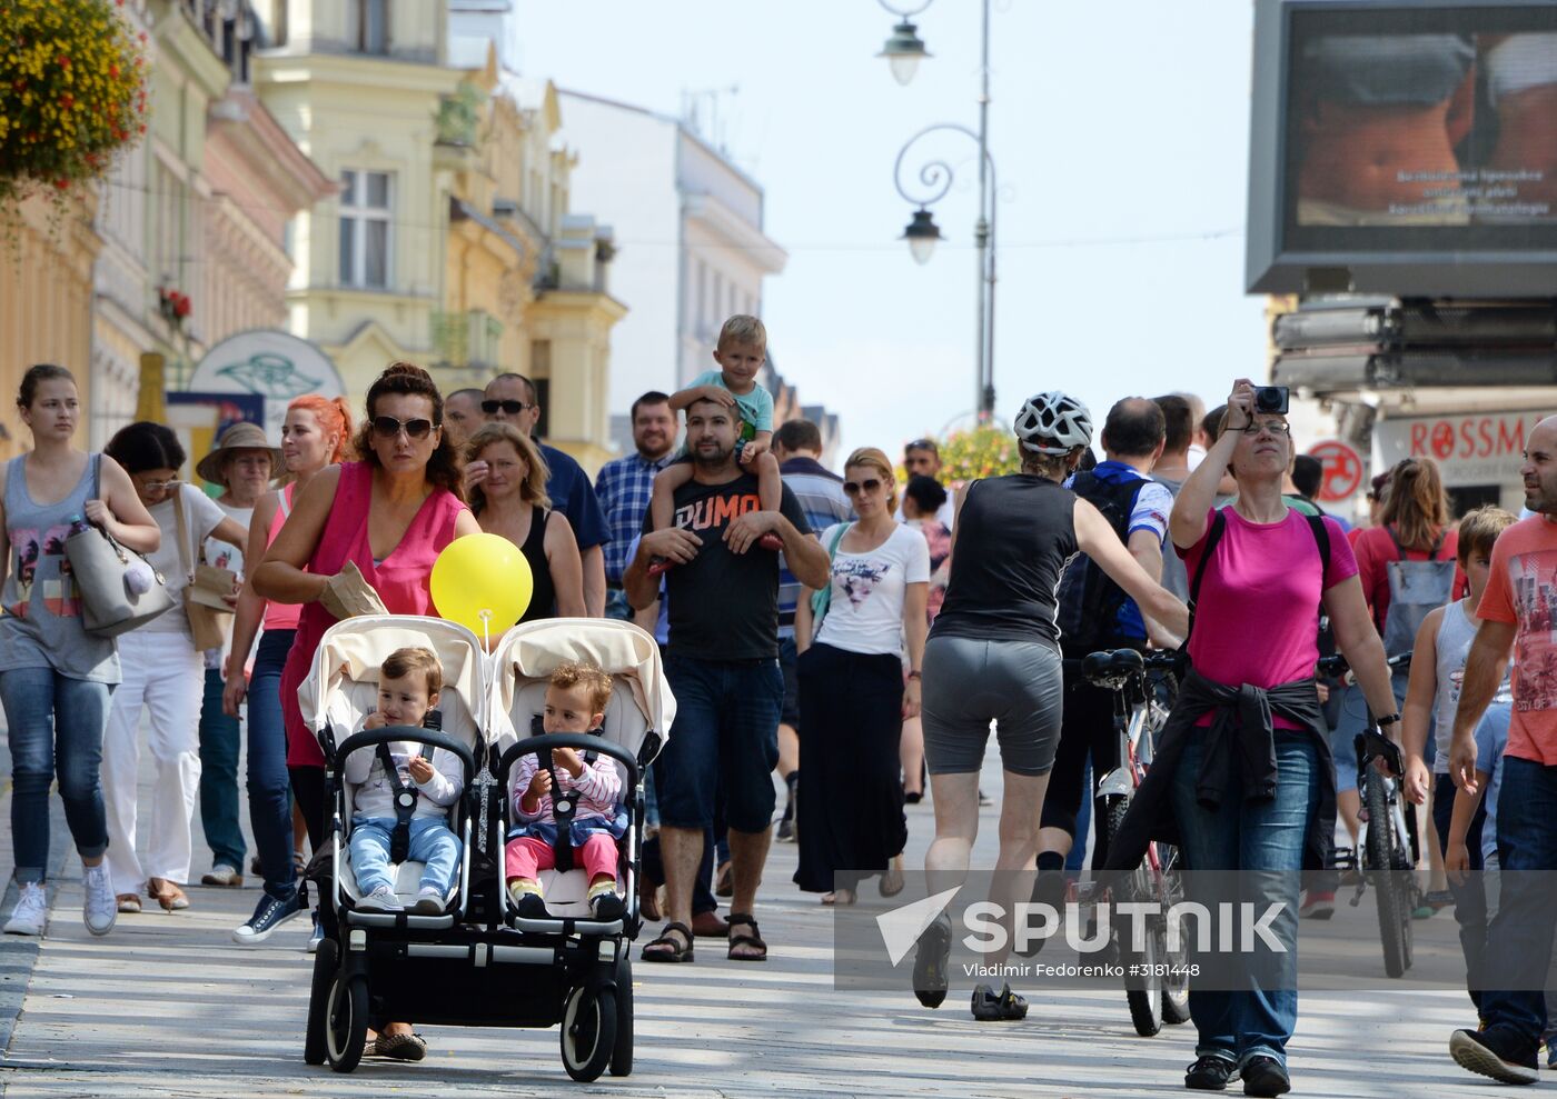
<svg viewBox="0 0 1557 1099">
<path fill-rule="evenodd" d="M 1007 914 L 1007 937 L 984 959 L 992 965 L 1009 957 L 1009 914 L 1032 892 L 1039 817 L 1060 738 L 1056 590 L 1065 564 L 1087 554 L 1149 618 L 1180 635 L 1186 626 L 1185 606 L 1152 582 L 1102 512 L 1062 487 L 1091 442 L 1087 406 L 1042 392 L 1028 399 L 1014 427 L 1021 472 L 973 481 L 958 500 L 951 581 L 925 646 L 925 760 L 936 803 L 936 841 L 925 853 L 931 894 L 967 880 L 978 775 L 990 722 L 998 722 L 1004 797 L 990 900 Z M 914 993 L 926 1007 L 947 996 L 950 950 L 951 922 L 942 914 L 920 936 L 914 962 Z M 996 993 L 979 984 L 972 1010 L 981 1021 L 1020 1020 L 1028 1001 L 1009 985 Z"/>
</svg>

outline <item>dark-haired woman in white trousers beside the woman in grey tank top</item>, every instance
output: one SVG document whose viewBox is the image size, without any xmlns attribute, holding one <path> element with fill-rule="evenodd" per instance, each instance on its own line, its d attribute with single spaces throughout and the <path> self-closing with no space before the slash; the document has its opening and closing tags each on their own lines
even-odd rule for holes
<svg viewBox="0 0 1557 1099">
<path fill-rule="evenodd" d="M 206 539 L 241 545 L 249 532 L 216 501 L 179 479 L 185 455 L 162 423 L 139 422 L 109 439 L 103 453 L 129 473 L 135 495 L 162 531 L 151 567 L 165 579 L 174 607 L 120 638 L 125 682 L 114 693 L 103 741 L 103 803 L 107 808 L 107 867 L 120 912 L 140 911 L 140 890 L 165 912 L 190 906 L 179 883 L 190 880 L 190 827 L 199 794 L 199 707 L 206 655 L 195 648 L 184 588 Z M 149 850 L 135 855 L 140 715 L 151 710 L 146 743 L 157 766 Z"/>
</svg>

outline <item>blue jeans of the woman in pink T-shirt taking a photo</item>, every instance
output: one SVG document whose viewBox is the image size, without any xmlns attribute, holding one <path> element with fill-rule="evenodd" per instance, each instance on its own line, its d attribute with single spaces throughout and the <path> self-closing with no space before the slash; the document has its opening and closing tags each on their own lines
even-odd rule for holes
<svg viewBox="0 0 1557 1099">
<path fill-rule="evenodd" d="M 1274 1057 L 1286 1065 L 1286 1043 L 1297 1026 L 1297 903 L 1303 867 L 1303 839 L 1319 805 L 1319 749 L 1308 733 L 1277 730 L 1277 791 L 1269 802 L 1244 800 L 1233 767 L 1233 789 L 1213 813 L 1196 800 L 1205 730 L 1194 730 L 1174 775 L 1172 805 L 1183 842 L 1190 898 L 1197 900 L 1197 870 L 1241 870 L 1239 900 L 1256 911 L 1280 903 L 1271 925 L 1286 954 L 1263 954 L 1238 962 L 1247 987 L 1238 992 L 1196 988 L 1190 982 L 1190 1015 L 1199 1031 L 1197 1057 L 1238 1062 Z M 1253 873 L 1249 872 L 1264 872 Z M 1221 892 L 1221 890 L 1218 890 Z M 1202 901 L 1204 903 L 1204 901 Z M 1214 911 L 1214 909 L 1213 909 Z M 1213 936 L 1211 942 L 1218 942 Z M 1225 971 L 1224 957 L 1202 957 L 1191 939 L 1190 965 Z M 1241 981 L 1242 982 L 1242 981 Z M 1227 984 L 1224 982 L 1225 988 Z"/>
</svg>

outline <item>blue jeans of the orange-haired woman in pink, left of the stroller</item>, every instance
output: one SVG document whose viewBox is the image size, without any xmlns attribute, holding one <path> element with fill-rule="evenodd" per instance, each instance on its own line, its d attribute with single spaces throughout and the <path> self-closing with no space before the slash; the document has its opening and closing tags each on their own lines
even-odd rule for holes
<svg viewBox="0 0 1557 1099">
<path fill-rule="evenodd" d="M 296 632 L 265 630 L 249 676 L 249 827 L 260 853 L 265 892 L 280 900 L 297 890 L 286 727 L 282 724 L 282 668 Z"/>
</svg>

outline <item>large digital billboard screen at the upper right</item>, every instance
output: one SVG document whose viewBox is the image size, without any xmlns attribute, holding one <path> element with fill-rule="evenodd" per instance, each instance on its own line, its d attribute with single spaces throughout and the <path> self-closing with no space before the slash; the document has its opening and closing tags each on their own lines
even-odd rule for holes
<svg viewBox="0 0 1557 1099">
<path fill-rule="evenodd" d="M 1557 3 L 1264 0 L 1260 19 L 1250 282 L 1261 249 L 1288 276 L 1252 288 L 1404 263 L 1408 285 L 1369 288 L 1412 293 L 1412 257 L 1557 252 Z M 1467 293 L 1499 290 L 1465 274 Z M 1417 282 L 1457 290 L 1445 271 Z"/>
</svg>

